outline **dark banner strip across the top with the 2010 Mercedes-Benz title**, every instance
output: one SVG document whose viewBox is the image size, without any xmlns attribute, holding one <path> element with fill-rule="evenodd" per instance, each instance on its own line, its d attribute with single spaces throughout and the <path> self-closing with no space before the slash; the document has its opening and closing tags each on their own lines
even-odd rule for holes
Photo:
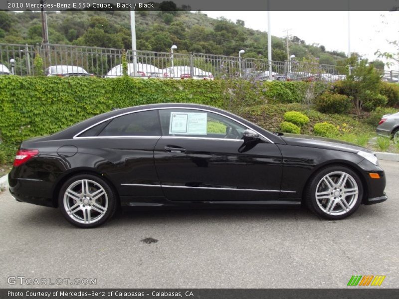
<svg viewBox="0 0 399 299">
<path fill-rule="evenodd" d="M 399 10 L 399 0 L 1 0 L 0 10 Z"/>
</svg>

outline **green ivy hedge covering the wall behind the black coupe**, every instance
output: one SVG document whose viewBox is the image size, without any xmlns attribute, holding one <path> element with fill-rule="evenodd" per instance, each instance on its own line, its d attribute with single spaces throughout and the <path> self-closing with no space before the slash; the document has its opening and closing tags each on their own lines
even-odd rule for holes
<svg viewBox="0 0 399 299">
<path fill-rule="evenodd" d="M 57 132 L 113 107 L 199 103 L 224 108 L 223 84 L 218 80 L 0 76 L 1 139 L 16 144 Z M 300 102 L 306 84 L 263 82 L 256 88 L 265 99 Z"/>
</svg>

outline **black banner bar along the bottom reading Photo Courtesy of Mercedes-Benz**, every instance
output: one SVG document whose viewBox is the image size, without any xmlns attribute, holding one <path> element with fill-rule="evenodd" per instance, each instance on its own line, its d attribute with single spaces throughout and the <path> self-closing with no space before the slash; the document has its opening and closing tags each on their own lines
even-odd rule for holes
<svg viewBox="0 0 399 299">
<path fill-rule="evenodd" d="M 399 289 L 1 289 L 1 299 L 393 299 Z"/>
</svg>

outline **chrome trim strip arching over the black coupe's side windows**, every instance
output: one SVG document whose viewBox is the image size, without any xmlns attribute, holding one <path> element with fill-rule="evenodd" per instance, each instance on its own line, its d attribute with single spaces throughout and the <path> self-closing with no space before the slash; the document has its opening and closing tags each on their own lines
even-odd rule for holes
<svg viewBox="0 0 399 299">
<path fill-rule="evenodd" d="M 262 137 L 262 138 L 264 138 L 265 140 L 267 140 L 269 143 L 274 144 L 273 141 L 271 141 L 270 139 L 268 139 L 268 138 L 267 138 L 266 136 L 264 136 L 263 134 L 260 134 L 258 131 L 252 129 L 251 127 L 249 127 L 249 126 L 247 126 L 247 125 L 241 123 L 240 121 L 235 120 L 235 119 L 233 119 L 232 117 L 227 116 L 227 115 L 225 115 L 225 114 L 223 114 L 223 113 L 220 113 L 220 112 L 217 112 L 217 111 L 208 110 L 208 109 L 204 109 L 204 108 L 179 107 L 179 106 L 176 106 L 176 107 L 147 108 L 147 109 L 141 109 L 141 110 L 136 110 L 136 111 L 129 111 L 129 112 L 125 112 L 125 113 L 122 113 L 122 114 L 114 115 L 114 116 L 111 116 L 111 117 L 109 117 L 109 118 L 107 118 L 107 119 L 105 119 L 105 120 L 102 120 L 102 121 L 100 121 L 100 122 L 98 122 L 98 123 L 95 123 L 94 125 L 91 125 L 90 127 L 88 127 L 88 128 L 86 128 L 86 129 L 80 131 L 79 133 L 77 133 L 77 134 L 75 134 L 75 135 L 73 136 L 73 139 L 87 139 L 87 138 L 89 138 L 89 139 L 97 139 L 97 138 L 102 138 L 102 136 L 79 137 L 79 135 L 82 134 L 82 133 L 84 133 L 84 132 L 86 132 L 87 130 L 90 130 L 91 128 L 93 128 L 93 127 L 95 127 L 95 126 L 97 126 L 97 125 L 99 125 L 99 124 L 101 124 L 101 123 L 104 123 L 104 122 L 106 122 L 106 121 L 112 120 L 112 119 L 117 118 L 117 117 L 120 117 L 120 116 L 124 116 L 124 115 L 128 115 L 128 114 L 133 114 L 133 113 L 138 113 L 138 112 L 143 112 L 143 111 L 164 110 L 164 109 L 187 109 L 187 110 L 199 110 L 199 111 L 206 111 L 206 112 L 210 112 L 210 113 L 215 113 L 215 114 L 221 115 L 221 116 L 223 116 L 223 117 L 225 117 L 225 118 L 228 118 L 228 119 L 230 119 L 230 120 L 232 120 L 232 121 L 234 121 L 234 122 L 236 122 L 236 123 L 238 123 L 238 124 L 244 126 L 244 127 L 247 128 L 247 129 L 250 129 L 250 130 L 254 131 L 254 132 L 257 133 L 260 137 Z M 133 138 L 133 136 L 124 136 L 124 137 L 125 137 L 125 138 Z M 155 138 L 156 136 L 153 136 L 153 137 Z M 165 136 L 165 137 L 169 137 L 169 136 Z M 109 138 L 121 138 L 121 137 L 118 137 L 118 136 L 109 136 Z M 137 136 L 137 138 L 142 138 L 142 137 L 141 137 L 141 136 Z M 185 137 L 182 136 L 182 138 L 185 138 Z M 186 137 L 186 138 L 187 138 L 187 137 Z M 215 140 L 215 138 L 209 138 L 209 139 L 210 139 L 210 140 Z M 216 140 L 217 140 L 217 139 L 216 139 Z"/>
</svg>

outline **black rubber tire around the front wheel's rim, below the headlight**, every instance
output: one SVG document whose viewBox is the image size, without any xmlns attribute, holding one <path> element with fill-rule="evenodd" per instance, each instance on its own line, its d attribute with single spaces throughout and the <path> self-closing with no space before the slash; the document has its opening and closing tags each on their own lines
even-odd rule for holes
<svg viewBox="0 0 399 299">
<path fill-rule="evenodd" d="M 342 215 L 329 215 L 327 213 L 325 213 L 324 211 L 322 211 L 319 207 L 319 205 L 317 204 L 317 199 L 316 199 L 316 188 L 317 185 L 319 184 L 320 180 L 328 173 L 334 172 L 334 171 L 342 171 L 342 172 L 346 172 L 349 175 L 351 175 L 354 180 L 356 181 L 357 185 L 358 185 L 358 190 L 359 190 L 359 194 L 358 194 L 358 198 L 356 200 L 355 205 L 353 206 L 353 208 Z M 359 208 L 360 204 L 362 203 L 362 199 L 363 199 L 363 184 L 362 181 L 359 177 L 359 175 L 353 171 L 352 169 L 345 167 L 345 166 L 340 166 L 340 165 L 336 165 L 336 166 L 328 166 L 325 167 L 321 170 L 319 170 L 316 175 L 313 177 L 313 179 L 311 180 L 309 189 L 308 189 L 308 200 L 309 200 L 309 204 L 311 206 L 311 209 L 319 216 L 329 219 L 329 220 L 339 220 L 339 219 L 344 219 L 346 217 L 349 217 L 350 215 L 352 215 L 353 213 L 356 212 L 356 210 Z"/>
</svg>

